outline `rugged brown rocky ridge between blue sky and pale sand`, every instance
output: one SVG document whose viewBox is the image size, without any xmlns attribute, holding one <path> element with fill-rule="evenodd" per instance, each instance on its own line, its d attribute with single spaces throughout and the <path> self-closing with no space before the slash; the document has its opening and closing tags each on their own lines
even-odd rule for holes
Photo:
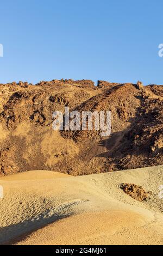
<svg viewBox="0 0 163 256">
<path fill-rule="evenodd" d="M 0 84 L 0 174 L 46 169 L 72 175 L 163 162 L 163 86 L 90 80 Z M 111 135 L 53 131 L 52 114 L 111 111 Z"/>
</svg>

